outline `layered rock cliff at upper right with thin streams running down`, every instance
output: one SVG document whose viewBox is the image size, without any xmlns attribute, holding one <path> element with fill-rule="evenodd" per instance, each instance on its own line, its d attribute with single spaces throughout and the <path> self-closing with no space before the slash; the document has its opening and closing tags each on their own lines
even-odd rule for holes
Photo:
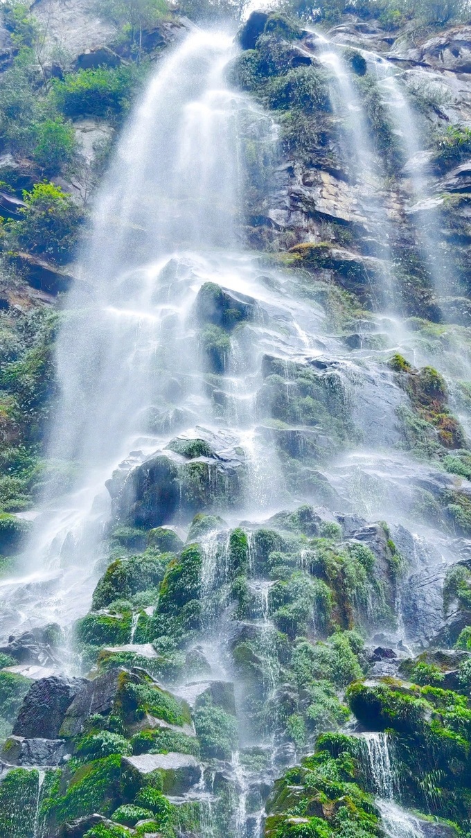
<svg viewBox="0 0 471 838">
<path fill-rule="evenodd" d="M 417 47 L 353 17 L 325 35 L 269 24 L 234 68 L 280 126 L 249 241 L 322 244 L 296 258 L 366 308 L 467 325 L 468 37 L 452 28 Z"/>
</svg>

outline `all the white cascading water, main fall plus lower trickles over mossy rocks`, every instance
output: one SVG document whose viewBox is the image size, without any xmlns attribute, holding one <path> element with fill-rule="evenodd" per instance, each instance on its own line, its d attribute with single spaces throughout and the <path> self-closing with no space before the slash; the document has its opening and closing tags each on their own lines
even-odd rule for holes
<svg viewBox="0 0 471 838">
<path fill-rule="evenodd" d="M 60 407 L 49 453 L 55 460 L 74 463 L 75 489 L 60 501 L 44 498 L 44 511 L 26 551 L 24 576 L 4 580 L 1 589 L 8 602 L 3 613 L 5 634 L 53 620 L 66 627 L 85 614 L 96 579 L 106 568 L 101 540 L 110 521 L 126 525 L 132 519 L 146 531 L 181 525 L 183 532 L 195 512 L 224 515 L 224 520 L 213 517 L 210 528 L 194 536 L 201 554 L 198 595 L 203 636 L 199 644 L 191 636 L 189 651 L 204 658 L 205 677 L 224 685 L 237 680 L 241 671 L 235 669 L 228 651 L 235 632 L 240 633 L 237 664 L 247 670 L 252 667 L 247 676 L 252 678 L 251 686 L 242 678 L 235 684 L 240 747 L 242 751 L 255 742 L 259 749 L 255 757 L 264 766 L 268 784 L 280 765 L 303 753 L 301 732 L 298 752 L 289 742 L 285 753 L 277 754 L 287 744 L 278 748 L 275 737 L 276 693 L 286 664 L 284 647 L 278 655 L 284 643 L 280 634 L 287 629 L 288 637 L 293 623 L 303 619 L 299 602 L 291 611 L 280 603 L 291 571 L 310 582 L 318 555 L 303 547 L 286 560 L 291 566 L 284 565 L 286 556 L 280 558 L 276 541 L 271 546 L 256 541 L 253 520 L 267 519 L 283 506 L 291 509 L 306 499 L 319 507 L 329 503 L 335 512 L 342 512 L 338 518 L 345 540 L 358 547 L 361 538 L 370 535 L 358 515 L 373 521 L 391 520 L 393 515 L 407 524 L 413 479 L 424 484 L 430 478 L 426 466 L 397 450 L 396 409 L 405 396 L 393 384 L 391 372 L 380 367 L 378 357 L 383 356 L 362 345 L 356 354 L 350 351 L 343 335 L 332 335 L 325 328 L 316 299 L 306 289 L 304 296 L 298 294 L 292 275 L 261 267 L 256 256 L 238 250 L 244 142 L 248 136 L 252 146 L 274 145 L 275 132 L 267 116 L 226 85 L 225 65 L 234 53 L 230 38 L 190 34 L 151 80 L 118 144 L 96 201 L 94 224 L 81 254 L 80 282 L 71 292 L 58 344 Z M 324 59 L 335 71 L 339 107 L 346 106 L 352 116 L 350 137 L 368 181 L 367 209 L 384 233 L 386 265 L 389 227 L 370 165 L 365 115 L 344 65 L 336 56 L 324 54 Z M 376 270 L 386 268 L 376 266 Z M 385 282 L 390 283 L 383 286 L 385 297 L 390 297 L 391 274 Z M 208 303 L 215 293 L 227 295 L 225 331 L 216 317 L 220 314 Z M 384 301 L 377 303 L 380 307 Z M 202 311 L 213 318 L 210 325 L 206 320 L 202 326 Z M 245 328 L 233 328 L 242 321 Z M 297 365 L 303 366 L 302 375 Z M 308 390 L 313 379 L 316 384 L 322 379 L 322 395 L 319 387 L 316 399 Z M 270 416 L 263 412 L 263 399 L 273 408 Z M 350 437 L 342 429 L 340 447 L 335 435 L 330 438 L 327 432 L 328 426 L 337 427 L 342 420 L 349 431 L 349 423 L 356 427 Z M 347 445 L 350 450 L 345 454 Z M 336 453 L 323 461 L 329 446 Z M 315 456 L 309 459 L 313 450 Z M 322 472 L 315 457 L 325 463 Z M 294 461 L 299 463 L 298 472 Z M 168 469 L 168 483 L 146 500 L 151 477 L 159 468 Z M 133 475 L 141 479 L 142 474 L 140 495 L 132 494 Z M 126 494 L 128 490 L 131 494 Z M 237 553 L 227 528 L 239 525 L 247 515 L 246 541 Z M 334 544 L 339 529 L 335 519 L 327 521 L 325 530 L 317 523 L 306 531 L 309 537 L 315 534 Z M 379 540 L 381 536 L 386 541 L 385 531 Z M 440 545 L 434 555 L 436 566 L 444 566 L 453 555 L 452 540 L 447 538 L 443 536 L 443 553 Z M 332 544 L 329 550 L 334 551 Z M 246 566 L 230 567 L 234 554 Z M 363 587 L 359 597 L 354 590 L 349 604 L 363 608 L 365 631 L 372 633 L 384 597 L 380 599 L 380 588 L 373 587 L 375 580 L 361 568 L 355 572 Z M 349 582 L 355 585 L 357 577 L 352 575 Z M 272 586 L 276 586 L 278 623 L 272 614 Z M 322 593 L 322 586 L 316 596 L 319 590 Z M 315 636 L 323 614 L 316 613 L 320 599 L 310 589 L 309 595 L 303 631 Z M 236 597 L 241 615 L 233 620 Z M 329 597 L 324 597 L 325 608 Z M 130 644 L 139 634 L 141 617 L 144 622 L 153 616 L 153 608 L 158 603 L 151 613 L 132 613 L 127 623 Z M 391 613 L 386 617 L 391 618 Z M 345 624 L 350 625 L 351 619 L 349 613 Z M 392 636 L 391 626 L 389 630 Z M 192 631 L 196 634 L 193 627 Z M 64 668 L 64 661 L 60 666 Z M 196 701 L 200 684 L 195 685 L 191 675 L 187 681 L 184 677 L 178 695 Z M 255 701 L 247 701 L 253 698 L 250 690 L 256 693 Z M 286 698 L 294 728 L 300 721 L 299 708 L 290 704 L 289 689 Z M 266 729 L 259 726 L 256 736 L 251 727 L 254 706 L 269 722 Z M 417 838 L 420 824 L 393 802 L 397 783 L 388 737 L 371 733 L 363 741 L 388 835 Z M 256 770 L 246 764 L 241 752 L 234 752 L 226 766 L 238 795 L 227 829 L 228 834 L 258 838 L 263 799 L 260 789 L 254 791 Z M 214 775 L 210 783 L 203 773 L 194 797 L 189 797 L 204 804 L 201 829 L 207 838 L 216 834 L 214 784 Z"/>
</svg>

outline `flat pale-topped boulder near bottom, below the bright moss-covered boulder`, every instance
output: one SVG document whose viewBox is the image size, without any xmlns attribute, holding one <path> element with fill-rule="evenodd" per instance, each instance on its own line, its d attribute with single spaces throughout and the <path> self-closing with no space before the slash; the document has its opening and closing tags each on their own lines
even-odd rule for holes
<svg viewBox="0 0 471 838">
<path fill-rule="evenodd" d="M 199 763 L 186 753 L 142 753 L 138 757 L 124 757 L 122 762 L 141 777 L 158 771 L 164 794 L 184 794 L 201 778 Z"/>
</svg>

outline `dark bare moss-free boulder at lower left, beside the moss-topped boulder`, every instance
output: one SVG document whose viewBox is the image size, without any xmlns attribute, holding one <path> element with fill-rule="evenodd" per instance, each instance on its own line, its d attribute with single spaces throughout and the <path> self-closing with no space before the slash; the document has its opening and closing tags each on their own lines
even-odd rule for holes
<svg viewBox="0 0 471 838">
<path fill-rule="evenodd" d="M 24 697 L 13 735 L 56 739 L 65 711 L 85 684 L 85 678 L 67 678 L 65 675 L 51 675 L 35 681 Z"/>
</svg>

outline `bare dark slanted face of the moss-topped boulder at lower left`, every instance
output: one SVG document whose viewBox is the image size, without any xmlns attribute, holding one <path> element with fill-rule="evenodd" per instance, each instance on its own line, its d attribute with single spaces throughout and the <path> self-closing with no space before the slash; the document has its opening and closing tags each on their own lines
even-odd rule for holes
<svg viewBox="0 0 471 838">
<path fill-rule="evenodd" d="M 69 702 L 64 721 L 60 727 L 60 736 L 74 737 L 82 731 L 85 719 L 94 713 L 106 714 L 111 711 L 118 679 L 122 667 L 112 669 L 91 681 L 84 680 L 82 689 L 77 691 L 74 700 Z"/>
</svg>

